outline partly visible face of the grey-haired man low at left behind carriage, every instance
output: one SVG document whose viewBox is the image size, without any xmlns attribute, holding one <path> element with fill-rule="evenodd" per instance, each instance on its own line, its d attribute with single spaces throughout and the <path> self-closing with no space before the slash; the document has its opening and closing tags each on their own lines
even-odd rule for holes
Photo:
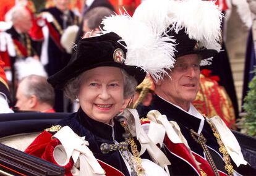
<svg viewBox="0 0 256 176">
<path fill-rule="evenodd" d="M 17 93 L 16 93 L 16 99 L 17 103 L 15 106 L 19 108 L 20 111 L 31 111 L 31 99 L 27 96 L 25 96 L 24 92 L 25 88 L 25 82 L 22 81 L 19 83 Z"/>
</svg>

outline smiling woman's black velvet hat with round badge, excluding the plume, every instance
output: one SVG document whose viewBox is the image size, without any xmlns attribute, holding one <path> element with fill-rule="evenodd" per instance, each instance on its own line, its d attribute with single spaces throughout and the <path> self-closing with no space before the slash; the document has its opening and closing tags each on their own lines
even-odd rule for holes
<svg viewBox="0 0 256 176">
<path fill-rule="evenodd" d="M 62 89 L 66 83 L 85 72 L 102 66 L 119 67 L 137 80 L 138 85 L 145 78 L 146 72 L 140 67 L 124 64 L 127 49 L 121 37 L 110 32 L 105 35 L 83 38 L 79 40 L 72 59 L 58 73 L 48 78 L 48 82 L 57 89 Z"/>
</svg>

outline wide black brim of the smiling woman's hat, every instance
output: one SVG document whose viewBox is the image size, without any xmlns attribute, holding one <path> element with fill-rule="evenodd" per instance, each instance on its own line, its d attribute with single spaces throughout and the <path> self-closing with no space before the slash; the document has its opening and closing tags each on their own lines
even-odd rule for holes
<svg viewBox="0 0 256 176">
<path fill-rule="evenodd" d="M 48 78 L 48 82 L 56 89 L 62 90 L 69 80 L 75 78 L 82 74 L 83 72 L 95 69 L 96 67 L 119 67 L 120 69 L 126 70 L 126 72 L 135 78 L 138 85 L 143 81 L 146 76 L 146 72 L 142 70 L 140 67 L 130 66 L 130 65 L 123 65 L 117 62 L 101 62 L 100 64 L 90 65 L 90 67 L 84 67 L 83 69 L 75 70 L 75 68 L 70 67 L 67 65 L 64 69 L 60 70 L 59 72 L 55 73 L 51 77 Z M 74 71 L 75 70 L 75 71 Z"/>
</svg>

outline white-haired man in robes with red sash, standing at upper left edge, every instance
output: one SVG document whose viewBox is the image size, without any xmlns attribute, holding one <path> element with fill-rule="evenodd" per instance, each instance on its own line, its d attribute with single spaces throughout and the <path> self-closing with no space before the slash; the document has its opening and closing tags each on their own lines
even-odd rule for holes
<svg viewBox="0 0 256 176">
<path fill-rule="evenodd" d="M 0 56 L 5 62 L 4 70 L 9 82 L 12 81 L 11 92 L 15 90 L 15 69 L 14 62 L 17 59 L 36 57 L 36 42 L 28 35 L 32 27 L 32 14 L 23 6 L 15 6 L 6 14 L 7 20 L 11 20 L 12 25 L 6 23 L 6 27 L 0 33 Z M 14 95 L 13 95 L 14 96 Z"/>
</svg>

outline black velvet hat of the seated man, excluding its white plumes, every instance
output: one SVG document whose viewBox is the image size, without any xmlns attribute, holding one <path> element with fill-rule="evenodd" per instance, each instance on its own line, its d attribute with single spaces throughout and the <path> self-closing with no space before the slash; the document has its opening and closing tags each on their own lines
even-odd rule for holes
<svg viewBox="0 0 256 176">
<path fill-rule="evenodd" d="M 215 49 L 199 47 L 198 42 L 196 40 L 190 39 L 184 28 L 179 30 L 177 33 L 174 30 L 169 30 L 166 34 L 173 36 L 173 39 L 176 40 L 176 51 L 174 51 L 175 58 L 187 54 L 198 54 L 201 56 L 201 59 L 208 59 L 218 54 L 218 51 Z"/>
</svg>

